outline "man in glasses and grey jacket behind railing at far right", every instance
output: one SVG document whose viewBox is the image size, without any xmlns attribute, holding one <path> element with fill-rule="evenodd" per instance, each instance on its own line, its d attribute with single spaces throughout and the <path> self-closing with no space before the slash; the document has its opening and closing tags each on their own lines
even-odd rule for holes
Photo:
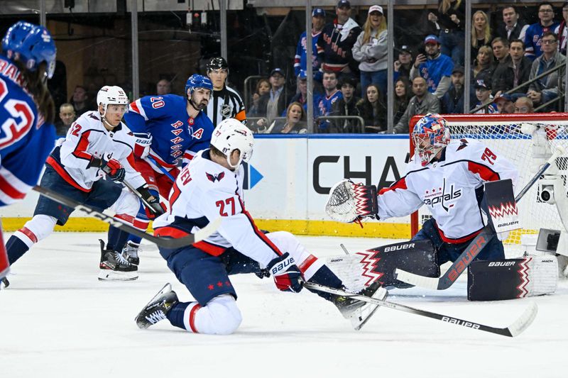
<svg viewBox="0 0 568 378">
<path fill-rule="evenodd" d="M 552 31 L 546 31 L 542 34 L 542 55 L 537 57 L 530 68 L 530 77 L 537 77 L 542 72 L 550 70 L 552 67 L 564 65 L 566 57 L 557 50 L 558 38 Z M 564 89 L 566 67 L 548 74 L 535 82 L 532 82 L 527 91 L 527 97 L 532 100 L 533 104 L 545 104 L 548 101 L 559 96 L 559 87 Z M 546 106 L 545 111 L 557 110 L 556 104 Z"/>
</svg>

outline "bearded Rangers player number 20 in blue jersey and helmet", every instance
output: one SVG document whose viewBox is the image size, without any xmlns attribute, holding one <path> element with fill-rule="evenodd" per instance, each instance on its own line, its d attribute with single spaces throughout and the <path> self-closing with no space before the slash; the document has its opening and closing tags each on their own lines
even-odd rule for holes
<svg viewBox="0 0 568 378">
<path fill-rule="evenodd" d="M 208 77 L 193 74 L 185 84 L 185 96 L 145 96 L 130 104 L 124 120 L 138 137 L 134 150 L 136 168 L 154 196 L 159 193 L 167 199 L 173 185 L 170 177 L 178 176 L 178 163 L 187 164 L 196 152 L 209 147 L 214 126 L 203 110 L 212 91 Z M 153 216 L 141 206 L 136 218 L 147 227 Z M 135 265 L 140 262 L 140 241 L 130 235 L 124 248 L 125 257 Z"/>
</svg>

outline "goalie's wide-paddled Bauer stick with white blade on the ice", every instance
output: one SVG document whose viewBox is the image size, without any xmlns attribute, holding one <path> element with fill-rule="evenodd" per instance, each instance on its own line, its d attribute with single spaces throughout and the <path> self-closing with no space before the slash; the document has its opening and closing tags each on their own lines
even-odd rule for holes
<svg viewBox="0 0 568 378">
<path fill-rule="evenodd" d="M 521 198 L 527 193 L 527 191 L 532 187 L 535 182 L 540 178 L 540 176 L 555 162 L 556 158 L 560 155 L 564 155 L 564 148 L 558 145 L 555 149 L 555 152 L 552 154 L 550 159 L 542 165 L 539 171 L 530 179 L 530 181 L 525 185 L 523 190 L 515 196 L 515 201 L 520 201 Z M 466 247 L 464 252 L 461 252 L 461 255 L 457 257 L 451 267 L 447 269 L 442 277 L 439 278 L 432 278 L 432 277 L 424 277 L 418 274 L 407 272 L 403 269 L 396 269 L 396 279 L 406 282 L 407 284 L 412 284 L 418 287 L 426 287 L 428 289 L 435 289 L 435 290 L 445 290 L 448 287 L 451 287 L 454 282 L 456 282 L 457 278 L 464 270 L 471 264 L 471 262 L 479 255 L 481 250 L 485 248 L 485 246 L 493 239 L 496 234 L 493 232 L 490 226 L 485 226 L 481 228 L 481 232 L 476 235 L 474 240 L 471 240 L 471 243 Z"/>
</svg>

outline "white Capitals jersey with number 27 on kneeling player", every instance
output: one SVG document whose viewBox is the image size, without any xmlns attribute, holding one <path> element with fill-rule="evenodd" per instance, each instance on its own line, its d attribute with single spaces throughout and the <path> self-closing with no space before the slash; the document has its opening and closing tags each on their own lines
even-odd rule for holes
<svg viewBox="0 0 568 378">
<path fill-rule="evenodd" d="M 170 212 L 155 219 L 155 235 L 180 238 L 222 216 L 217 232 L 194 246 L 214 256 L 233 247 L 266 267 L 282 252 L 244 209 L 243 177 L 242 168 L 233 172 L 213 162 L 209 150 L 197 152 L 170 191 Z"/>
</svg>

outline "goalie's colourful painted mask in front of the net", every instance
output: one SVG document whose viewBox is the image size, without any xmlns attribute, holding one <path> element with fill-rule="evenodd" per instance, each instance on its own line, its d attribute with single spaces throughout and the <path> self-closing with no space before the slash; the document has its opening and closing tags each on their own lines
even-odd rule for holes
<svg viewBox="0 0 568 378">
<path fill-rule="evenodd" d="M 420 118 L 413 129 L 413 143 L 422 167 L 431 162 L 448 145 L 449 140 L 449 128 L 442 116 L 428 113 Z"/>
</svg>

